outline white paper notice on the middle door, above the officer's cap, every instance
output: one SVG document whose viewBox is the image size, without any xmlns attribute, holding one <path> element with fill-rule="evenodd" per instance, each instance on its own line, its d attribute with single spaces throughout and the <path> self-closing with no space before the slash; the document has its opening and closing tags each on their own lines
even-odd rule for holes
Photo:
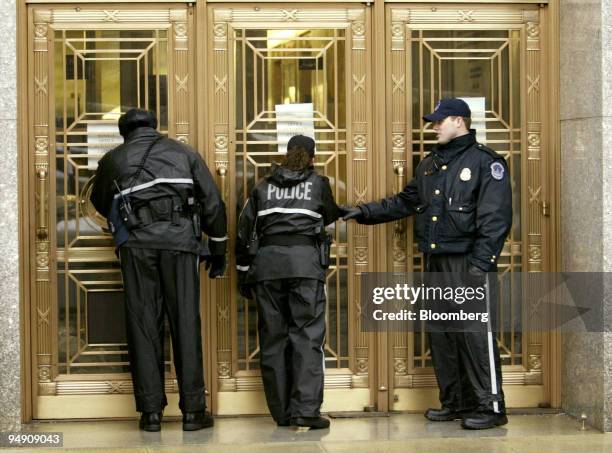
<svg viewBox="0 0 612 453">
<path fill-rule="evenodd" d="M 275 111 L 279 153 L 287 152 L 287 142 L 294 135 L 315 138 L 312 104 L 277 104 Z"/>
</svg>

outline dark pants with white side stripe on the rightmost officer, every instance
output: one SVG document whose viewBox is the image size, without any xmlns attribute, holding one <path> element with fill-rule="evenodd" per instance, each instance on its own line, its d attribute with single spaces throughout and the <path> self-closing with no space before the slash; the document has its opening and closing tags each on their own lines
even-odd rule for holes
<svg viewBox="0 0 612 453">
<path fill-rule="evenodd" d="M 468 273 L 468 255 L 429 255 L 427 260 L 428 271 L 438 273 L 435 279 L 444 286 L 468 286 L 461 281 Z M 498 305 L 496 283 L 493 275 L 487 275 L 489 298 L 483 308 L 488 306 L 488 323 L 471 323 L 461 329 L 454 322 L 448 330 L 439 325 L 430 329 L 431 357 L 443 407 L 505 412 L 501 360 L 492 327 Z"/>
</svg>

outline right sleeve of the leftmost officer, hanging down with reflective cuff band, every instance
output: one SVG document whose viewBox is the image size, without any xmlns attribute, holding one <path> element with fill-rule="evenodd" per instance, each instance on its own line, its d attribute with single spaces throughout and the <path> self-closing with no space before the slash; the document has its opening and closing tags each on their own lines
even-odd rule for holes
<svg viewBox="0 0 612 453">
<path fill-rule="evenodd" d="M 215 180 L 199 154 L 195 156 L 191 168 L 195 196 L 202 211 L 202 231 L 208 236 L 208 248 L 211 255 L 225 255 L 227 248 L 227 214 L 225 203 Z"/>
</svg>

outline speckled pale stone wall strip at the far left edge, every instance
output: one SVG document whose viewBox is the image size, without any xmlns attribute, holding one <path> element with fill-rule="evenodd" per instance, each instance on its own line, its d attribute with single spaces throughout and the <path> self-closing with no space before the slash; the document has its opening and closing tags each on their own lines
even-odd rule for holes
<svg viewBox="0 0 612 453">
<path fill-rule="evenodd" d="M 0 0 L 0 431 L 21 418 L 15 0 Z"/>
</svg>

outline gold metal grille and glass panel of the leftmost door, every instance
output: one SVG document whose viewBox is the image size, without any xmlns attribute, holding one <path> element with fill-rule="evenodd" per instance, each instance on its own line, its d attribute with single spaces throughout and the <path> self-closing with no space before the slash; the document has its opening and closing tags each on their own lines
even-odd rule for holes
<svg viewBox="0 0 612 453">
<path fill-rule="evenodd" d="M 168 129 L 166 30 L 61 30 L 54 39 L 58 371 L 129 371 L 123 285 L 106 221 L 89 201 L 99 159 L 132 107 Z M 167 332 L 167 330 L 166 330 Z M 168 335 L 166 334 L 168 337 Z M 169 341 L 166 355 L 171 357 Z M 166 362 L 171 371 L 171 360 Z"/>
</svg>

